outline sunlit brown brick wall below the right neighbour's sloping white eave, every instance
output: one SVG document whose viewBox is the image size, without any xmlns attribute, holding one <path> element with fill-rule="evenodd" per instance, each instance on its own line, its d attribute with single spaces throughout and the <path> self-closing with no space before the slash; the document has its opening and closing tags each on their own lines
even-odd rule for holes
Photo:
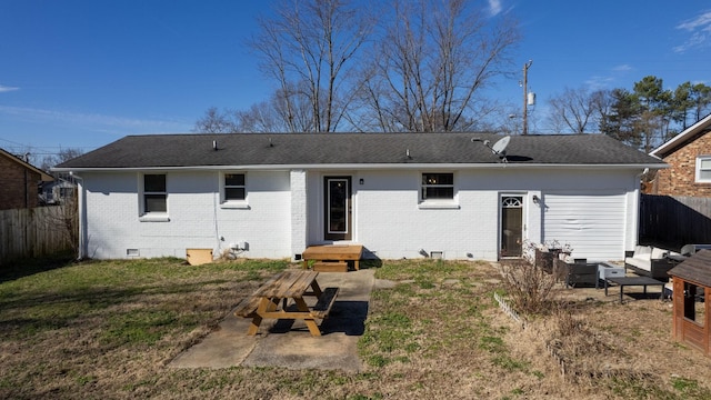
<svg viewBox="0 0 711 400">
<path fill-rule="evenodd" d="M 663 160 L 668 169 L 657 172 L 654 194 L 711 197 L 711 183 L 697 183 L 697 157 L 711 156 L 711 132 L 700 133 Z"/>
</svg>

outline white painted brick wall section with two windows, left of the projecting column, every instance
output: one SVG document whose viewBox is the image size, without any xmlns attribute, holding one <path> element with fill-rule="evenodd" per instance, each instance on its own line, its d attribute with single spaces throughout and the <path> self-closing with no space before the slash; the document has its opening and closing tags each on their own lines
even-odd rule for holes
<svg viewBox="0 0 711 400">
<path fill-rule="evenodd" d="M 182 258 L 188 248 L 219 254 L 238 241 L 249 243 L 244 257 L 291 253 L 288 172 L 249 172 L 249 209 L 220 207 L 218 172 L 169 172 L 169 222 L 139 221 L 138 179 L 136 172 L 84 176 L 88 257 L 127 258 L 127 249 L 139 249 L 141 257 Z"/>
</svg>

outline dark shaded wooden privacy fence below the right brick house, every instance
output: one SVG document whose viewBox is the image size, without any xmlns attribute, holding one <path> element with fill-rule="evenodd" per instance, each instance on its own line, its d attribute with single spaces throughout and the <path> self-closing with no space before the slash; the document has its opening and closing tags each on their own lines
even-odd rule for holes
<svg viewBox="0 0 711 400">
<path fill-rule="evenodd" d="M 711 243 L 711 198 L 642 194 L 640 241 Z"/>
</svg>

